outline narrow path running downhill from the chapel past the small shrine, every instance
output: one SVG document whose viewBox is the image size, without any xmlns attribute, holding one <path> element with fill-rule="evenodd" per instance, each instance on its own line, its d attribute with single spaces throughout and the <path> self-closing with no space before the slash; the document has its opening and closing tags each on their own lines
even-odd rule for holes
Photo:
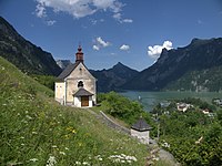
<svg viewBox="0 0 222 166">
<path fill-rule="evenodd" d="M 119 125 L 117 122 L 112 121 L 110 117 L 108 117 L 102 111 L 100 111 L 100 114 L 97 114 L 95 112 L 91 111 L 88 108 L 88 111 L 93 114 L 97 118 L 101 120 L 103 123 L 105 123 L 109 127 L 112 127 L 119 132 L 122 132 L 124 134 L 130 135 L 130 129 L 127 127 L 123 127 Z M 159 147 L 158 143 L 154 139 L 150 138 L 150 144 L 149 144 L 150 151 L 150 156 L 147 158 L 148 159 L 148 165 L 152 164 L 152 160 L 165 160 L 169 166 L 180 166 L 179 163 L 176 163 L 175 158 L 173 157 L 172 154 L 169 152 L 162 149 Z"/>
</svg>

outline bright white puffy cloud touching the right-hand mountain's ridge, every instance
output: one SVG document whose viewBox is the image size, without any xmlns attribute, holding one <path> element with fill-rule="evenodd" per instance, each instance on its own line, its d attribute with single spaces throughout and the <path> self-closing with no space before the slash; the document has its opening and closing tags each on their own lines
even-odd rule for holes
<svg viewBox="0 0 222 166">
<path fill-rule="evenodd" d="M 148 55 L 158 59 L 162 52 L 162 49 L 165 48 L 167 50 L 171 50 L 172 48 L 171 41 L 164 41 L 162 45 L 154 45 L 154 46 L 148 46 Z"/>
</svg>

